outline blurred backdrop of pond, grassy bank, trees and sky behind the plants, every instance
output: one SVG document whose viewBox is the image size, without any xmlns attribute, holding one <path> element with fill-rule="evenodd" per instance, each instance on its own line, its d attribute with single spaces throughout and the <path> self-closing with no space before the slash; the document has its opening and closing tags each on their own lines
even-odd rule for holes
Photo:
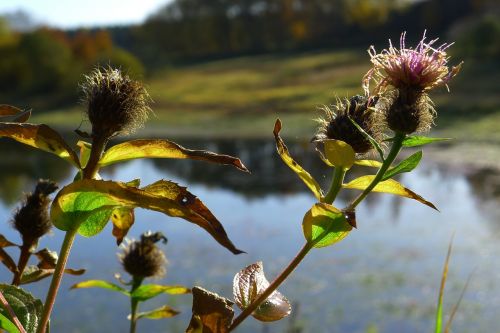
<svg viewBox="0 0 500 333">
<path fill-rule="evenodd" d="M 475 270 L 455 328 L 500 332 L 498 1 L 2 0 L 0 103 L 33 110 L 32 122 L 60 129 L 75 143 L 73 130 L 89 128 L 79 82 L 96 65 L 118 66 L 143 80 L 154 100 L 155 116 L 138 136 L 240 156 L 252 175 L 186 161 L 135 161 L 103 173 L 124 181 L 140 176 L 143 184 L 173 179 L 205 201 L 248 254 L 232 256 L 192 225 L 147 212 L 137 215 L 130 235 L 147 229 L 167 235 L 166 283 L 198 284 L 230 297 L 239 269 L 263 260 L 271 278 L 293 257 L 302 243 L 302 216 L 314 202 L 274 151 L 274 120 L 283 121 L 292 154 L 326 186 L 330 175 L 308 144 L 319 108 L 362 92 L 370 45 L 378 51 L 388 39 L 397 45 L 403 31 L 407 45 L 415 45 L 425 30 L 429 40 L 439 37 L 438 45 L 455 43 L 448 49 L 451 65 L 464 60 L 450 92 L 441 88 L 431 96 L 438 111 L 432 135 L 455 140 L 425 149 L 419 171 L 400 180 L 441 213 L 370 196 L 359 208 L 359 230 L 315 251 L 283 286 L 294 314 L 272 325 L 250 319 L 240 331 L 429 332 L 446 247 L 456 232 L 448 313 Z M 4 139 L 0 146 L 4 221 L 36 179 L 65 184 L 73 177 L 52 156 Z M 0 232 L 15 238 L 8 224 Z M 56 230 L 41 245 L 55 250 L 60 241 Z M 116 250 L 107 228 L 77 240 L 70 265 L 86 268 L 86 278 L 112 279 L 120 270 Z M 2 280 L 7 276 L 0 271 Z M 67 277 L 66 287 L 77 281 Z M 43 298 L 45 287 L 31 290 Z M 119 295 L 64 291 L 58 302 L 54 332 L 126 330 L 128 305 Z M 168 302 L 183 314 L 140 323 L 139 330 L 183 331 L 189 297 Z"/>
</svg>

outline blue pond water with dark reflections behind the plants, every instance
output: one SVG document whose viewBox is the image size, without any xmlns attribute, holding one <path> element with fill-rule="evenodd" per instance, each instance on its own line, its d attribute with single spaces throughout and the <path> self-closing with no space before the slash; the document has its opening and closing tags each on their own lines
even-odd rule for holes
<svg viewBox="0 0 500 333">
<path fill-rule="evenodd" d="M 233 255 L 204 230 L 184 220 L 138 210 L 129 234 L 162 231 L 169 259 L 159 283 L 199 285 L 231 298 L 232 279 L 240 269 L 264 262 L 269 279 L 303 244 L 301 221 L 315 202 L 305 186 L 265 140 L 190 141 L 239 156 L 252 174 L 226 166 L 174 160 L 136 160 L 103 170 L 105 179 L 173 180 L 196 194 L 223 223 L 231 240 L 247 254 Z M 289 143 L 294 157 L 317 179 L 328 182 L 326 169 L 308 144 Z M 72 178 L 65 162 L 6 140 L 1 142 L 0 233 L 17 239 L 8 225 L 23 191 L 36 179 L 60 184 Z M 363 171 L 363 170 L 359 170 Z M 358 171 L 358 173 L 359 173 Z M 366 171 L 366 170 L 364 170 Z M 453 322 L 457 332 L 498 332 L 500 313 L 500 174 L 494 170 L 463 172 L 425 160 L 399 179 L 434 202 L 436 212 L 416 201 L 372 194 L 357 210 L 358 229 L 341 243 L 312 251 L 280 291 L 293 303 L 292 315 L 271 324 L 250 318 L 238 332 L 430 332 L 434 328 L 440 277 L 450 238 L 455 234 L 444 312 L 449 314 L 468 276 L 473 274 Z M 342 196 L 341 203 L 356 192 Z M 41 241 L 59 250 L 62 233 Z M 69 267 L 85 268 L 83 277 L 65 276 L 52 321 L 53 332 L 126 332 L 129 304 L 120 294 L 99 289 L 69 291 L 83 279 L 114 280 L 122 272 L 108 225 L 93 238 L 79 237 Z M 10 280 L 5 268 L 2 281 Z M 44 299 L 48 281 L 28 285 Z M 148 310 L 169 304 L 182 314 L 143 320 L 140 332 L 183 332 L 189 322 L 191 296 L 159 296 L 142 304 Z"/>
</svg>

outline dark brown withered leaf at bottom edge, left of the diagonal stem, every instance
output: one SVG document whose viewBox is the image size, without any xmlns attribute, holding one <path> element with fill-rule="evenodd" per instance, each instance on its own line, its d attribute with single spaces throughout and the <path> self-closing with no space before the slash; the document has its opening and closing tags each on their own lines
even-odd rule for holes
<svg viewBox="0 0 500 333">
<path fill-rule="evenodd" d="M 201 287 L 193 290 L 193 315 L 186 333 L 228 333 L 233 302 Z"/>
</svg>

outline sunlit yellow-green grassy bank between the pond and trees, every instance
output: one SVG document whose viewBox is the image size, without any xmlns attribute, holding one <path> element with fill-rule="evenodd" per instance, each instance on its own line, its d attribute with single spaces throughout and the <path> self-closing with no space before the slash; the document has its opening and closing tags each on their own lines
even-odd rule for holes
<svg viewBox="0 0 500 333">
<path fill-rule="evenodd" d="M 274 120 L 284 136 L 310 137 L 336 97 L 362 93 L 370 67 L 365 50 L 241 57 L 155 73 L 146 84 L 155 101 L 147 131 L 158 136 L 271 137 Z M 447 93 L 432 94 L 441 134 L 500 142 L 500 64 L 467 61 Z M 34 121 L 74 129 L 81 110 L 34 115 Z M 83 124 L 84 127 L 88 124 Z"/>
</svg>

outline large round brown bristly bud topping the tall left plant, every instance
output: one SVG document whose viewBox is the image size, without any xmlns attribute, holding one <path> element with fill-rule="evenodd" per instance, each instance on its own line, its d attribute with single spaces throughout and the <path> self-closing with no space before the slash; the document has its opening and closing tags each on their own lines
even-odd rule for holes
<svg viewBox="0 0 500 333">
<path fill-rule="evenodd" d="M 85 76 L 81 89 L 94 139 L 132 133 L 151 112 L 151 99 L 142 83 L 119 69 L 96 68 Z"/>
</svg>

